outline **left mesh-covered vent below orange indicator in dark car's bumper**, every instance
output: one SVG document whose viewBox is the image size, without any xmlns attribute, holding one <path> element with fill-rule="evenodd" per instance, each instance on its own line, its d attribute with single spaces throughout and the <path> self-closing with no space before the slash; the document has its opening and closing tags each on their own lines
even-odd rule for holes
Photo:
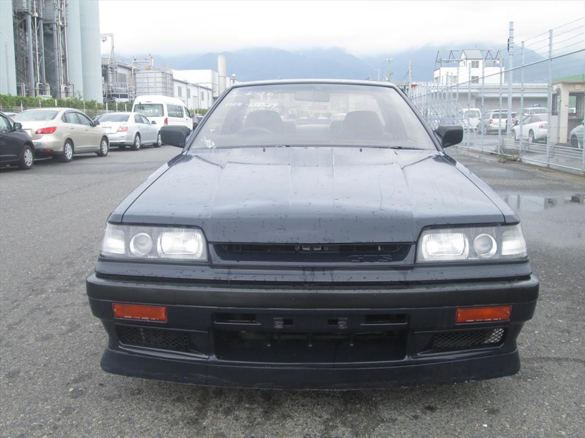
<svg viewBox="0 0 585 438">
<path fill-rule="evenodd" d="M 189 335 L 177 330 L 132 327 L 128 325 L 116 326 L 120 342 L 126 345 L 139 345 L 164 350 L 189 350 Z"/>
</svg>

